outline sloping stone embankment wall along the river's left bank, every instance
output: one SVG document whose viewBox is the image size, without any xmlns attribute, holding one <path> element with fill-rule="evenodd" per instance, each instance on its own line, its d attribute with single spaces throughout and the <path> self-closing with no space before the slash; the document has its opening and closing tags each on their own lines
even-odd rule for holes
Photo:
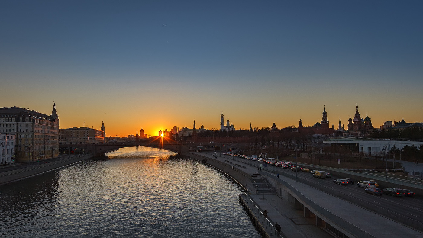
<svg viewBox="0 0 423 238">
<path fill-rule="evenodd" d="M 0 185 L 4 183 L 10 183 L 13 181 L 21 180 L 24 178 L 29 178 L 34 175 L 38 175 L 50 170 L 56 170 L 56 169 L 68 166 L 70 164 L 83 161 L 85 159 L 90 159 L 92 157 L 93 157 L 92 154 L 88 154 L 81 157 L 77 156 L 77 157 L 73 157 L 69 159 L 61 159 L 61 160 L 53 161 L 47 164 L 40 164 L 40 165 L 34 164 L 34 165 L 30 165 L 28 167 L 17 169 L 17 170 L 1 172 Z"/>
</svg>

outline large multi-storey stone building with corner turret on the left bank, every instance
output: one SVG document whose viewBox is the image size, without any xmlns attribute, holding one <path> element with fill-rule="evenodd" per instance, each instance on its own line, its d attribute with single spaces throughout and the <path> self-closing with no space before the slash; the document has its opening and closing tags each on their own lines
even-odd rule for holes
<svg viewBox="0 0 423 238">
<path fill-rule="evenodd" d="M 1 132 L 14 135 L 15 162 L 59 156 L 59 116 L 56 104 L 46 115 L 22 107 L 0 108 Z"/>
</svg>

